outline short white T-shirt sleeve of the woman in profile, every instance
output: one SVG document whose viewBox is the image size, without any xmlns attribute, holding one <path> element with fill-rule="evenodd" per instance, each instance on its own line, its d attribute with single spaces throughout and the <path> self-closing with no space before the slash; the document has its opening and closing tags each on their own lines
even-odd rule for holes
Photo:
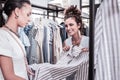
<svg viewBox="0 0 120 80">
<path fill-rule="evenodd" d="M 7 36 L 0 32 L 0 55 L 12 57 L 11 46 Z"/>
</svg>

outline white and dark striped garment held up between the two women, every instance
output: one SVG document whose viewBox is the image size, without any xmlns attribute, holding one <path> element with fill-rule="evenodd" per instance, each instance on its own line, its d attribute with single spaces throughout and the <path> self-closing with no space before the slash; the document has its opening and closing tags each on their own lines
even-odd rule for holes
<svg viewBox="0 0 120 80">
<path fill-rule="evenodd" d="M 36 71 L 34 80 L 66 80 L 66 77 L 73 74 L 72 80 L 88 80 L 89 54 L 80 52 L 82 48 L 83 45 L 71 46 L 56 64 L 33 64 L 32 69 Z"/>
</svg>

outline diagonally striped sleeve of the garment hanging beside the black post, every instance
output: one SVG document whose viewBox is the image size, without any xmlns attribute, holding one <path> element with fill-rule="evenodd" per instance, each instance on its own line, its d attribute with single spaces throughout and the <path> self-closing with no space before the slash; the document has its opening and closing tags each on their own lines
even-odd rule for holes
<svg viewBox="0 0 120 80">
<path fill-rule="evenodd" d="M 102 5 L 102 4 L 101 4 Z M 101 16 L 101 8 L 97 9 L 97 14 L 95 18 L 95 32 L 94 32 L 94 69 L 96 69 L 98 64 L 98 54 L 99 54 L 99 47 L 100 47 L 100 40 L 102 36 L 102 16 Z"/>
</svg>

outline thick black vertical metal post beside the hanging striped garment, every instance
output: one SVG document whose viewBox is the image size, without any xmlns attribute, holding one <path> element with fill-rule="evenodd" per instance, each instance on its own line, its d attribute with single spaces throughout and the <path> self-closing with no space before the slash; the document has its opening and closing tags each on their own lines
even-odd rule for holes
<svg viewBox="0 0 120 80">
<path fill-rule="evenodd" d="M 88 80 L 94 80 L 94 21 L 95 21 L 95 0 L 89 0 L 89 74 Z"/>
</svg>

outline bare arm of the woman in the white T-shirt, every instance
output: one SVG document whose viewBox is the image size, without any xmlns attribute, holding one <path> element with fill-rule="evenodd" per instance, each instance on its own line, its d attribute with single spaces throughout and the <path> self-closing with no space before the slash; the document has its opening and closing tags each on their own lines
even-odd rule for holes
<svg viewBox="0 0 120 80">
<path fill-rule="evenodd" d="M 11 57 L 0 56 L 0 67 L 5 80 L 25 80 L 15 75 Z"/>
</svg>

